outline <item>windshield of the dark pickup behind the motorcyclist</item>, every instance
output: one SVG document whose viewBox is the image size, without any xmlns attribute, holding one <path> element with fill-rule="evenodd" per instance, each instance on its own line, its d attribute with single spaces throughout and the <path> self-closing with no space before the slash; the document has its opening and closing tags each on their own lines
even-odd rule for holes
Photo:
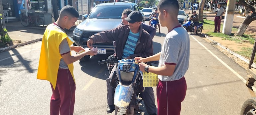
<svg viewBox="0 0 256 115">
<path fill-rule="evenodd" d="M 90 19 L 121 19 L 124 9 L 132 9 L 131 6 L 97 6 L 89 16 Z"/>
</svg>

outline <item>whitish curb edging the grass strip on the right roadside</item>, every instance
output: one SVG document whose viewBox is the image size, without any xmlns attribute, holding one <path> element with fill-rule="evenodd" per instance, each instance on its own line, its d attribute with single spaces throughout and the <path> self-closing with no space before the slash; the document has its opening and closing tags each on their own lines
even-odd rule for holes
<svg viewBox="0 0 256 115">
<path fill-rule="evenodd" d="M 218 46 L 220 46 L 221 48 L 225 49 L 226 51 L 228 51 L 229 53 L 233 54 L 234 56 L 238 57 L 239 59 L 243 60 L 244 62 L 246 62 L 247 64 L 249 64 L 249 59 L 245 58 L 244 56 L 241 56 L 237 53 L 235 53 L 234 51 L 230 50 L 229 48 L 226 48 L 225 46 L 221 45 L 219 42 L 214 41 L 213 39 L 211 39 L 209 36 L 205 35 L 207 39 L 211 40 L 212 42 L 217 43 Z M 252 63 L 253 67 L 256 67 L 255 63 Z"/>
</svg>

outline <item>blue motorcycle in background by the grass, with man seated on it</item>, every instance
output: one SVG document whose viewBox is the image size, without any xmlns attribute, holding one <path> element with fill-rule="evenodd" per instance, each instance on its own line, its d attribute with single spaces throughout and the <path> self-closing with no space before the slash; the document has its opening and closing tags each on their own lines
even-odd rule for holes
<svg viewBox="0 0 256 115">
<path fill-rule="evenodd" d="M 194 23 L 191 22 L 190 18 L 188 18 L 187 22 L 182 25 L 183 28 L 185 28 L 188 32 L 194 32 Z M 197 35 L 202 33 L 202 29 L 203 29 L 203 23 L 199 23 L 198 26 L 196 27 L 196 31 L 195 33 Z"/>
</svg>

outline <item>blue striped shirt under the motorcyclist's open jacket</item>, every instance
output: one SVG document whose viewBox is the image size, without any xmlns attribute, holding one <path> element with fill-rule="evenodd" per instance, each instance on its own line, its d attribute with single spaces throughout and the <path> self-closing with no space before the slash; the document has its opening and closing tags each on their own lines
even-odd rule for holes
<svg viewBox="0 0 256 115">
<path fill-rule="evenodd" d="M 134 54 L 135 46 L 137 44 L 137 41 L 139 39 L 140 33 L 133 33 L 131 30 L 129 32 L 127 41 L 124 46 L 123 55 L 122 58 L 127 58 L 130 55 Z"/>
</svg>

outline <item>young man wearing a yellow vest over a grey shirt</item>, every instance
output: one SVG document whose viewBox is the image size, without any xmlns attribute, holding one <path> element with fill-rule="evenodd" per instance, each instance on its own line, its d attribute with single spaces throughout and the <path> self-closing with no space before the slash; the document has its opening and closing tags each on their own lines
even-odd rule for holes
<svg viewBox="0 0 256 115">
<path fill-rule="evenodd" d="M 51 115 L 72 115 L 75 103 L 75 80 L 73 62 L 85 55 L 96 55 L 94 51 L 85 51 L 71 55 L 70 51 L 85 50 L 81 46 L 73 46 L 73 39 L 64 29 L 75 26 L 78 12 L 73 6 L 64 6 L 58 20 L 47 26 L 42 39 L 37 79 L 47 80 L 52 87 L 50 102 Z"/>
</svg>

